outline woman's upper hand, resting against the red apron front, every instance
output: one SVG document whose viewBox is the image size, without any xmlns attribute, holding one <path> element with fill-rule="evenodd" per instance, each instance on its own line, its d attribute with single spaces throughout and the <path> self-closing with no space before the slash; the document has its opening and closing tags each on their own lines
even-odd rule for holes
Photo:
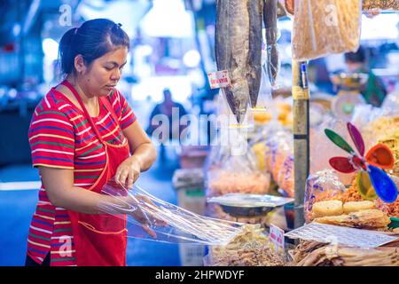
<svg viewBox="0 0 399 284">
<path fill-rule="evenodd" d="M 140 176 L 140 172 L 141 162 L 132 155 L 119 165 L 115 173 L 115 180 L 130 189 Z"/>
</svg>

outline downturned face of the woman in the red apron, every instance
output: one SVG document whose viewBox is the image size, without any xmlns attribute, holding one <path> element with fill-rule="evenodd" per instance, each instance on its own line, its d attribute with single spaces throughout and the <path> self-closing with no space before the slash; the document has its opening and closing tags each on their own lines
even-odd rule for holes
<svg viewBox="0 0 399 284">
<path fill-rule="evenodd" d="M 82 72 L 82 88 L 90 97 L 105 97 L 121 79 L 126 64 L 128 48 L 121 46 L 95 59 Z"/>
</svg>

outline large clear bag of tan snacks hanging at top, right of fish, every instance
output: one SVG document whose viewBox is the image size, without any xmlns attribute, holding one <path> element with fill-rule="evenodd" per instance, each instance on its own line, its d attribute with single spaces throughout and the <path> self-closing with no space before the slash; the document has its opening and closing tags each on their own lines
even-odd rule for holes
<svg viewBox="0 0 399 284">
<path fill-rule="evenodd" d="M 293 59 L 356 51 L 360 43 L 361 0 L 295 0 Z"/>
</svg>

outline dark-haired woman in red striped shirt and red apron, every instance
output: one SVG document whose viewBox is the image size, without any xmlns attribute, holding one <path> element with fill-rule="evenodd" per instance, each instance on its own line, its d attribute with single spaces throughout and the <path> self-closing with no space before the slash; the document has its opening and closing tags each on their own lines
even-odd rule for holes
<svg viewBox="0 0 399 284">
<path fill-rule="evenodd" d="M 99 211 L 112 198 L 101 189 L 111 177 L 132 186 L 156 158 L 115 89 L 128 51 L 129 36 L 111 20 L 86 21 L 61 38 L 66 79 L 36 106 L 28 132 L 43 186 L 27 265 L 126 265 L 126 220 Z"/>
</svg>

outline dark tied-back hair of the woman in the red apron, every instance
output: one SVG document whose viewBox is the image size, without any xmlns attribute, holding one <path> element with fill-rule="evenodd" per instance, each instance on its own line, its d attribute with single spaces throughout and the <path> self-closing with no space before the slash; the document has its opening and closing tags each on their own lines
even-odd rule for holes
<svg viewBox="0 0 399 284">
<path fill-rule="evenodd" d="M 95 19 L 85 21 L 80 28 L 69 29 L 59 43 L 59 59 L 64 74 L 74 72 L 74 58 L 81 54 L 86 65 L 117 47 L 129 49 L 129 36 L 121 24 L 112 20 Z"/>
</svg>

